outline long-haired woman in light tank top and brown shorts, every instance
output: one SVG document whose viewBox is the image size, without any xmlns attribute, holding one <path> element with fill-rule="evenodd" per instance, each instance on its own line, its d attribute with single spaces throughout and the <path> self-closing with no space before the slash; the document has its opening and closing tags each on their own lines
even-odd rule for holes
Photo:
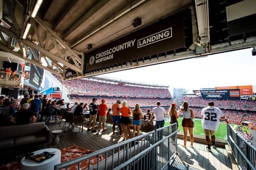
<svg viewBox="0 0 256 170">
<path fill-rule="evenodd" d="M 193 147 L 193 142 L 194 142 L 194 136 L 193 136 L 193 129 L 194 129 L 194 112 L 192 109 L 188 108 L 188 102 L 184 101 L 182 103 L 182 107 L 180 108 L 180 111 L 183 113 L 183 119 L 182 119 L 182 127 L 184 131 L 184 145 L 182 145 L 184 148 L 186 148 L 186 143 L 187 143 L 187 136 L 188 132 L 190 135 L 190 147 Z"/>
</svg>

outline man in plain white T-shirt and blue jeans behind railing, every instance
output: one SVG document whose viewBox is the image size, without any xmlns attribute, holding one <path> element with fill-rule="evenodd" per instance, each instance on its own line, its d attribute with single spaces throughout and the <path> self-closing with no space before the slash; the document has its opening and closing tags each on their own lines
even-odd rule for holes
<svg viewBox="0 0 256 170">
<path fill-rule="evenodd" d="M 164 127 L 164 117 L 165 117 L 165 110 L 164 108 L 160 107 L 161 103 L 160 101 L 156 102 L 157 107 L 154 107 L 152 110 L 151 117 L 149 121 L 152 121 L 154 115 L 156 117 L 156 128 Z M 162 138 L 162 132 L 161 134 L 158 133 L 158 138 Z"/>
</svg>

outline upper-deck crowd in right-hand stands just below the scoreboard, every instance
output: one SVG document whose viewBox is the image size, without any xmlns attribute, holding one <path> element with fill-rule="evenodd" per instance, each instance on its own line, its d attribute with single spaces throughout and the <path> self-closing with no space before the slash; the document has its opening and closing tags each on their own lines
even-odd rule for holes
<svg viewBox="0 0 256 170">
<path fill-rule="evenodd" d="M 190 106 L 206 107 L 209 100 L 202 97 L 183 97 L 183 101 L 188 101 Z M 246 99 L 220 99 L 214 100 L 214 105 L 222 109 L 239 109 L 256 111 L 256 101 Z"/>
</svg>

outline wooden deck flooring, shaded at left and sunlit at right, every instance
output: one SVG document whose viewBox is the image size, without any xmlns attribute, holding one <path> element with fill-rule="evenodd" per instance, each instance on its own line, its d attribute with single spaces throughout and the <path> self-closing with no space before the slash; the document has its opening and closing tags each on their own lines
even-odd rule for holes
<svg viewBox="0 0 256 170">
<path fill-rule="evenodd" d="M 63 125 L 63 123 L 62 123 Z M 47 124 L 50 130 L 61 129 L 59 124 L 50 122 Z M 98 130 L 98 126 L 95 128 Z M 75 128 L 74 131 L 78 131 Z M 116 135 L 112 137 L 112 125 L 108 125 L 106 128 L 106 133 L 92 131 L 87 132 L 87 125 L 84 126 L 83 132 L 73 133 L 71 131 L 62 132 L 59 134 L 60 143 L 57 145 L 52 145 L 52 139 L 54 134 L 50 133 L 50 142 L 48 148 L 66 148 L 69 146 L 77 145 L 89 150 L 100 150 L 108 146 L 114 145 L 118 142 L 124 141 L 122 137 Z M 118 128 L 116 128 L 116 133 L 119 134 Z M 178 139 L 178 153 L 179 157 L 188 164 L 192 169 L 206 169 L 206 170 L 231 170 L 230 162 L 228 160 L 227 152 L 225 148 L 212 148 L 212 152 L 206 150 L 205 144 L 194 143 L 194 149 L 190 148 L 190 142 L 187 142 L 187 148 L 182 147 L 183 140 Z M 37 146 L 33 148 L 34 150 L 46 148 L 46 144 Z M 32 148 L 30 148 L 32 149 Z M 27 150 L 27 152 L 32 152 L 33 150 Z M 2 163 L 2 161 L 0 162 Z"/>
</svg>

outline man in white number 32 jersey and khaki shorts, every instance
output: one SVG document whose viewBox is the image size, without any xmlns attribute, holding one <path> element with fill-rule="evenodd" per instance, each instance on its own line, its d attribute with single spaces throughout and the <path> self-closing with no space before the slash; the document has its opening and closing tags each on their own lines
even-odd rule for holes
<svg viewBox="0 0 256 170">
<path fill-rule="evenodd" d="M 229 123 L 229 122 L 223 115 L 222 111 L 218 107 L 214 107 L 213 102 L 209 102 L 208 107 L 205 107 L 204 109 L 202 109 L 201 117 L 203 118 L 202 127 L 204 129 L 206 143 L 208 145 L 208 146 L 206 146 L 206 149 L 209 152 L 212 152 L 210 135 L 211 135 L 211 139 L 212 139 L 212 147 L 215 148 L 214 133 L 218 129 L 220 119 L 226 121 L 226 123 Z"/>
</svg>

